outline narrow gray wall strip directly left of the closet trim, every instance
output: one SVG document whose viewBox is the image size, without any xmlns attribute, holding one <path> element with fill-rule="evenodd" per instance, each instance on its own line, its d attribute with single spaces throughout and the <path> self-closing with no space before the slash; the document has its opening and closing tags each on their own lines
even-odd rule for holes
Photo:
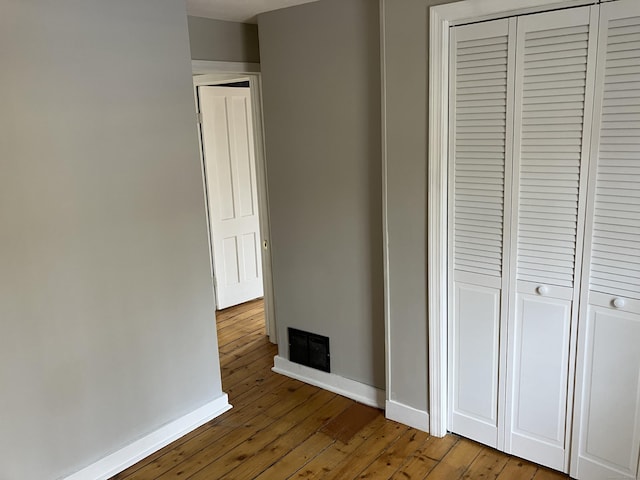
<svg viewBox="0 0 640 480">
<path fill-rule="evenodd" d="M 382 0 L 386 68 L 390 396 L 425 410 L 429 7 Z"/>
</svg>

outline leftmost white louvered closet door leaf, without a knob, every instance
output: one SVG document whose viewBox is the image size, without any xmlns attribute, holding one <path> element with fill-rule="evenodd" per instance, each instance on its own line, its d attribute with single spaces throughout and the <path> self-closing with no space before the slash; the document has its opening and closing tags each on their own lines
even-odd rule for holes
<svg viewBox="0 0 640 480">
<path fill-rule="evenodd" d="M 498 448 L 514 26 L 451 29 L 449 425 Z"/>
</svg>

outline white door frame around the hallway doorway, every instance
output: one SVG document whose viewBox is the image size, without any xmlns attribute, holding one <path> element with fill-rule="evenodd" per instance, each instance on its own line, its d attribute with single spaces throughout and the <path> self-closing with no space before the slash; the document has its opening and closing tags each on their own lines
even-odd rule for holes
<svg viewBox="0 0 640 480">
<path fill-rule="evenodd" d="M 251 92 L 251 110 L 254 135 L 254 156 L 256 167 L 256 187 L 258 191 L 258 216 L 260 219 L 260 243 L 262 245 L 262 283 L 264 286 L 264 315 L 266 332 L 271 343 L 278 343 L 276 328 L 276 316 L 273 295 L 273 274 L 271 268 L 271 228 L 269 221 L 269 195 L 267 188 L 267 165 L 264 145 L 264 124 L 262 116 L 262 79 L 260 76 L 260 65 L 254 63 L 235 62 L 209 62 L 204 60 L 194 60 L 192 62 L 193 72 L 193 94 L 196 103 L 196 114 L 198 116 L 198 143 L 200 151 L 200 162 L 202 167 L 202 182 L 205 195 L 208 195 L 204 152 L 202 145 L 202 134 L 200 118 L 200 101 L 198 97 L 198 87 L 222 85 L 230 82 L 248 81 Z M 213 244 L 210 228 L 209 204 L 206 203 L 207 211 L 207 231 L 209 235 L 209 259 L 211 268 L 211 278 L 213 279 Z M 215 282 L 214 282 L 215 285 Z M 214 287 L 214 295 L 215 295 Z"/>
</svg>

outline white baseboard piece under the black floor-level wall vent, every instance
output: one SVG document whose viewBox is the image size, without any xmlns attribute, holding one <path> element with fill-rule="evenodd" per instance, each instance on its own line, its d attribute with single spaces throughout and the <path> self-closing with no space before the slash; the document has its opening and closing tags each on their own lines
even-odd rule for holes
<svg viewBox="0 0 640 480">
<path fill-rule="evenodd" d="M 280 356 L 276 356 L 273 359 L 273 364 L 272 370 L 276 373 L 329 390 L 371 407 L 384 408 L 385 393 L 384 390 L 379 388 L 365 385 L 334 373 L 305 367 Z"/>
</svg>

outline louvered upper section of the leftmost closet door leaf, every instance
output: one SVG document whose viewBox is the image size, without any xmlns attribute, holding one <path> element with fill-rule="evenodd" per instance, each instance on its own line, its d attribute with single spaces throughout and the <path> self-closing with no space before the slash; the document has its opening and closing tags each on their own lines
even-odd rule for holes
<svg viewBox="0 0 640 480">
<path fill-rule="evenodd" d="M 501 277 L 508 36 L 454 48 L 454 270 Z"/>
</svg>

